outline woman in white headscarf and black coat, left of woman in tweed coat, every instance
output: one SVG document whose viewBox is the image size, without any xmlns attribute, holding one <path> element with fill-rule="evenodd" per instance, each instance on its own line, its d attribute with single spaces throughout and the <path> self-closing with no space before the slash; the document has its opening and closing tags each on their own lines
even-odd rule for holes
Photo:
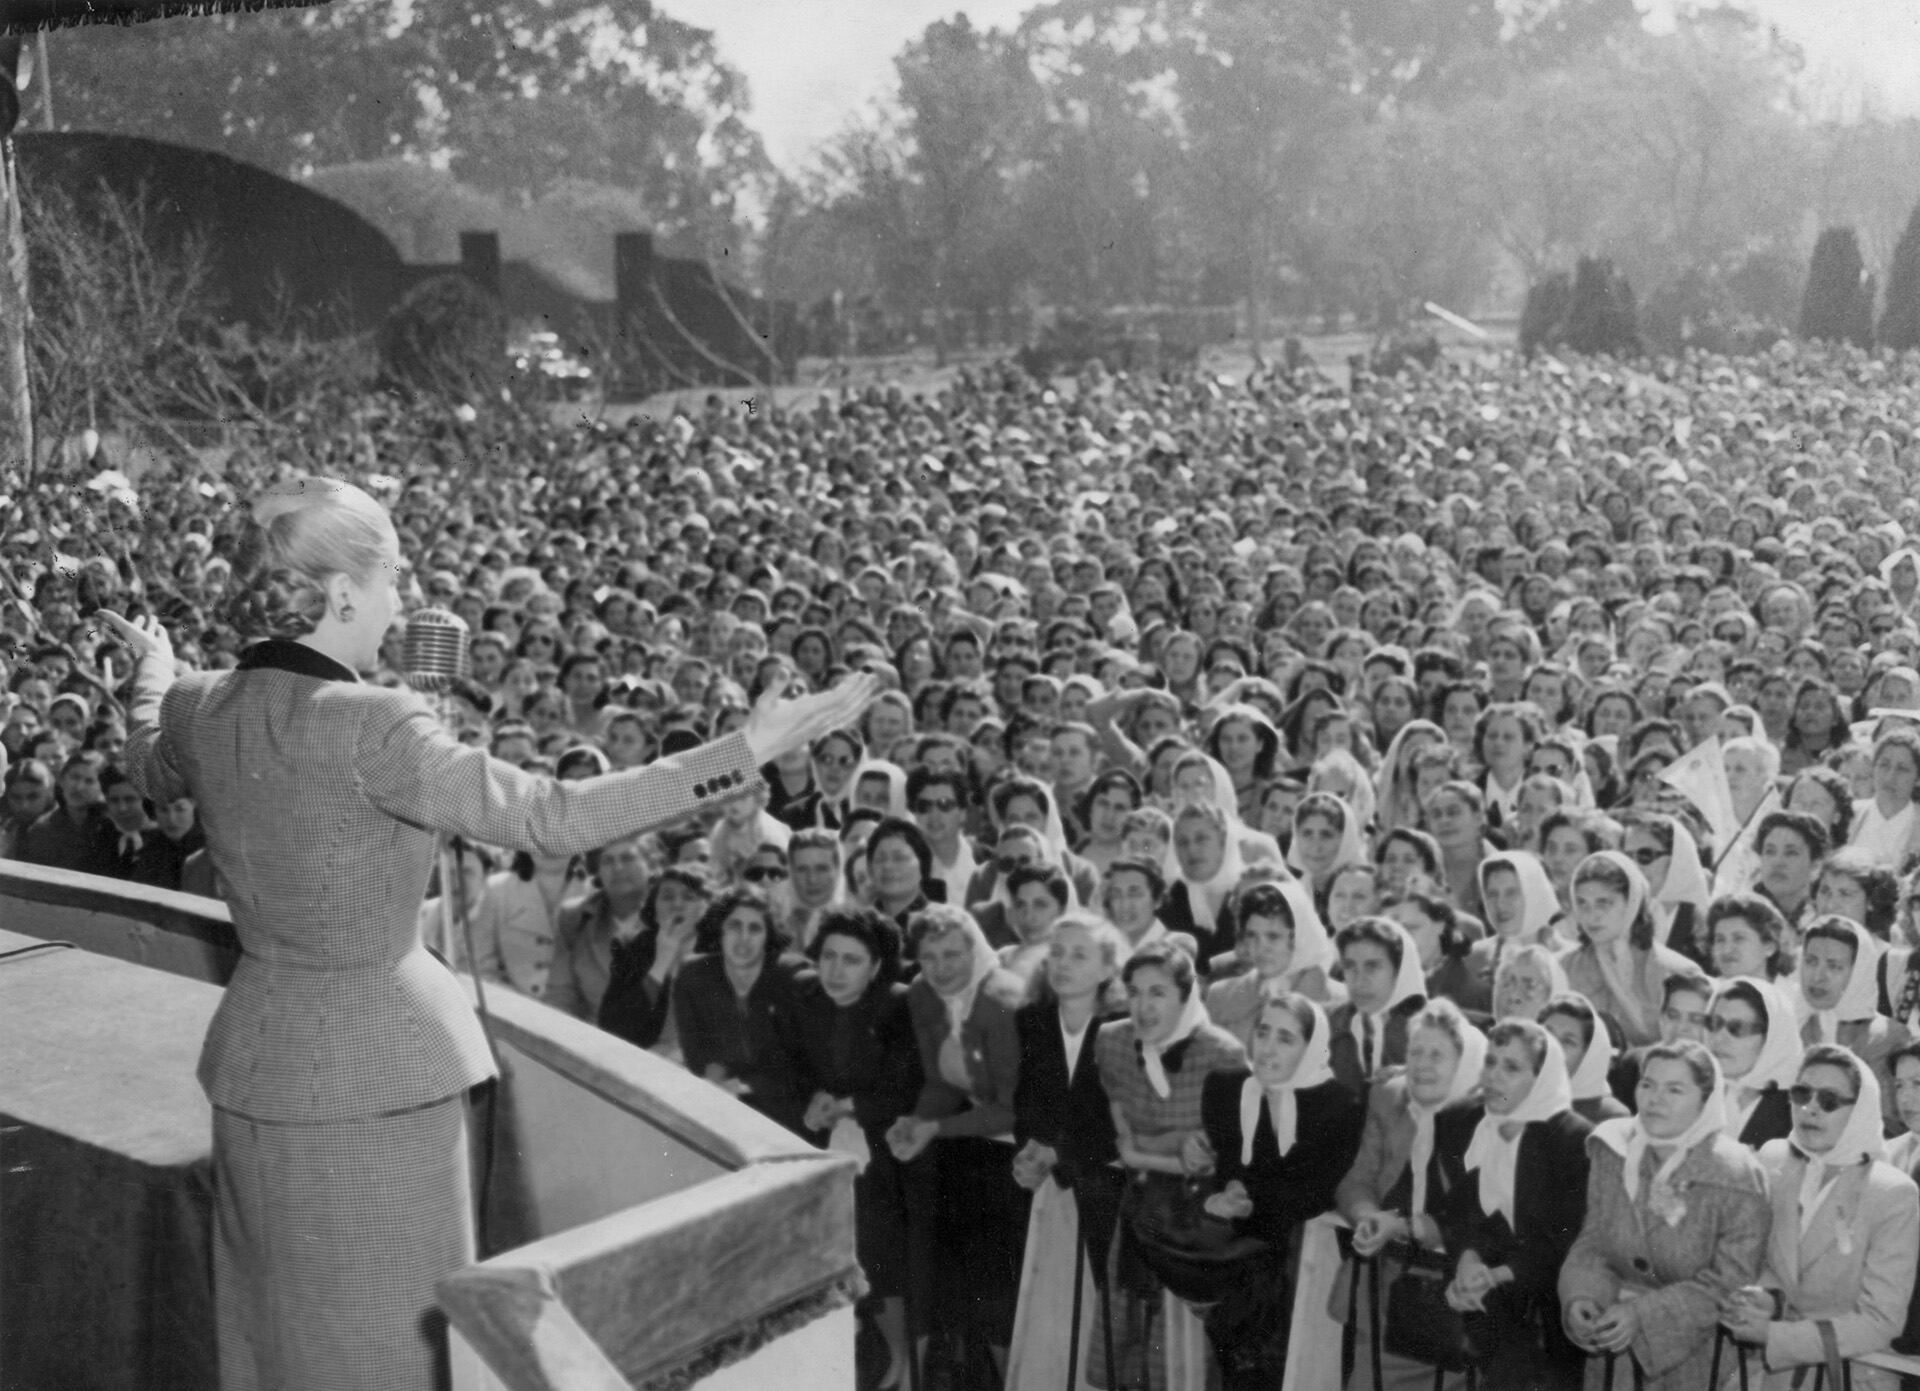
<svg viewBox="0 0 1920 1391">
<path fill-rule="evenodd" d="M 1503 1020 L 1486 1036 L 1480 1103 L 1434 1120 L 1448 1305 L 1467 1316 L 1486 1385 L 1571 1387 L 1555 1278 L 1580 1232 L 1588 1124 L 1559 1041 Z"/>
</svg>

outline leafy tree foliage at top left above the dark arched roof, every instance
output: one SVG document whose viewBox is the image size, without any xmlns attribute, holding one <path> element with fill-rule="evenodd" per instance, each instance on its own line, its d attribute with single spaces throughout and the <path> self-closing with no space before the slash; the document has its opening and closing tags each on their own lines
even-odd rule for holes
<svg viewBox="0 0 1920 1391">
<path fill-rule="evenodd" d="M 278 173 L 415 159 L 516 200 L 603 183 L 701 246 L 735 236 L 772 173 L 712 33 L 647 0 L 363 0 L 50 46 L 69 127 Z"/>
</svg>

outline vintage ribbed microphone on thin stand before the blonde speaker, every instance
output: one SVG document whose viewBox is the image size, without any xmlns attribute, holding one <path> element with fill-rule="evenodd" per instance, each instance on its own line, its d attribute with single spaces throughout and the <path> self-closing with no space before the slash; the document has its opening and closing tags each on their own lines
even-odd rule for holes
<svg viewBox="0 0 1920 1391">
<path fill-rule="evenodd" d="M 407 615 L 407 638 L 401 649 L 401 674 L 407 684 L 426 696 L 440 715 L 442 724 L 453 726 L 453 682 L 472 671 L 467 655 L 467 619 L 447 609 L 415 609 Z M 507 1076 L 507 1064 L 493 1039 L 493 1020 L 486 1007 L 486 980 L 480 978 L 474 951 L 472 915 L 467 903 L 467 872 L 461 838 L 440 838 L 440 915 L 442 915 L 442 955 L 451 961 L 447 947 L 455 934 L 467 949 L 467 972 L 474 982 L 474 1013 L 480 1016 L 480 1032 L 486 1034 L 488 1053 L 493 1055 L 493 1070 Z M 478 1164 L 474 1172 L 474 1235 L 480 1257 L 493 1255 L 492 1241 L 492 1187 L 493 1187 L 493 1147 L 497 1143 L 499 1120 L 499 1082 L 482 1084 L 470 1093 L 474 1107 L 474 1130 Z"/>
</svg>

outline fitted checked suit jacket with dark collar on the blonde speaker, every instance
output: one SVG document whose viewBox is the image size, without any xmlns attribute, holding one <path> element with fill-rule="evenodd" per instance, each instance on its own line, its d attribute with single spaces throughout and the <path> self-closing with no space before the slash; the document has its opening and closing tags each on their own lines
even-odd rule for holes
<svg viewBox="0 0 1920 1391">
<path fill-rule="evenodd" d="M 125 761 L 148 797 L 194 797 L 244 949 L 200 1082 L 276 1122 L 407 1110 L 492 1074 L 467 993 L 420 945 L 436 830 L 584 853 L 760 780 L 739 734 L 588 782 L 532 776 L 292 642 L 171 684 L 142 663 Z"/>
</svg>

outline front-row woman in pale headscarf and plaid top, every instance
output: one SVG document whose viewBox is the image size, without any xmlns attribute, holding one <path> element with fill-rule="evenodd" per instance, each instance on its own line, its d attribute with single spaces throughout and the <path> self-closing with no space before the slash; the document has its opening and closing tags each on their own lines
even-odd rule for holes
<svg viewBox="0 0 1920 1391">
<path fill-rule="evenodd" d="M 1208 1020 L 1192 957 L 1183 947 L 1135 949 L 1123 978 L 1129 1016 L 1100 1028 L 1094 1057 L 1114 1109 L 1127 1185 L 1144 1189 L 1192 1172 L 1188 1141 L 1200 1134 L 1206 1078 L 1244 1066 L 1246 1051 Z M 1139 1195 L 1123 1201 L 1123 1212 L 1131 1201 Z M 1123 1374 L 1144 1362 L 1150 1391 L 1204 1391 L 1208 1349 L 1200 1320 L 1140 1262 L 1125 1218 L 1108 1291 L 1121 1366 L 1106 1366 L 1106 1349 L 1096 1345 L 1094 1385 L 1135 1385 Z"/>
</svg>

